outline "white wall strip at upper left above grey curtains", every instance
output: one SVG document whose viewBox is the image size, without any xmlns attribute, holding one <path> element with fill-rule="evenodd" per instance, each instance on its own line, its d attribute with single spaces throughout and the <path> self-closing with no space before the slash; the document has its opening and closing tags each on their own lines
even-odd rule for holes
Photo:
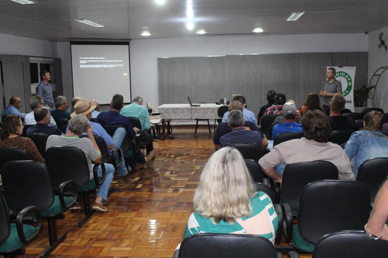
<svg viewBox="0 0 388 258">
<path fill-rule="evenodd" d="M 0 33 L 0 55 L 55 57 L 56 43 Z"/>
</svg>

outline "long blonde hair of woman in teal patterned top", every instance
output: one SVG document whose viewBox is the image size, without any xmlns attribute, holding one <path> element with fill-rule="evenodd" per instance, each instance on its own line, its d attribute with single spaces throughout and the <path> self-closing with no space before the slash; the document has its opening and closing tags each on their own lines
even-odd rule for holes
<svg viewBox="0 0 388 258">
<path fill-rule="evenodd" d="M 194 194 L 194 211 L 233 223 L 252 213 L 249 198 L 255 195 L 252 178 L 235 148 L 224 147 L 213 153 L 202 171 Z"/>
</svg>

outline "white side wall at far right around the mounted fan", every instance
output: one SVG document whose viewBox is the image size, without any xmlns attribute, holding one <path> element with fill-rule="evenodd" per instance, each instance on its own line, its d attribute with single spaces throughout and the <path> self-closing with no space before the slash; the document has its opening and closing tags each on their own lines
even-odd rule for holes
<svg viewBox="0 0 388 258">
<path fill-rule="evenodd" d="M 384 47 L 378 48 L 380 32 L 384 32 L 384 38 L 388 43 L 386 27 L 368 33 L 368 83 L 378 68 L 388 66 L 388 51 L 386 52 Z M 371 101 L 369 101 L 368 106 L 372 106 Z M 383 108 L 385 112 L 388 112 L 388 70 L 384 72 L 377 83 L 373 106 Z"/>
</svg>

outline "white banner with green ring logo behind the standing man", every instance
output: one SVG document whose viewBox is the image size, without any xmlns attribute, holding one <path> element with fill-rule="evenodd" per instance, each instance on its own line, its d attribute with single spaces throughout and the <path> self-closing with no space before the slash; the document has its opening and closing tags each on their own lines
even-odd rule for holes
<svg viewBox="0 0 388 258">
<path fill-rule="evenodd" d="M 356 67 L 327 66 L 326 69 L 329 67 L 336 69 L 335 77 L 341 82 L 342 95 L 346 99 L 345 108 L 354 111 L 355 105 L 353 91 L 355 89 Z"/>
</svg>

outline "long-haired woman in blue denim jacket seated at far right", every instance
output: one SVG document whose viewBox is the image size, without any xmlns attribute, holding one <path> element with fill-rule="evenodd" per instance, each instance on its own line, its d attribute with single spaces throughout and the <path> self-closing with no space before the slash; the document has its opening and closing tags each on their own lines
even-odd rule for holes
<svg viewBox="0 0 388 258">
<path fill-rule="evenodd" d="M 383 114 L 379 111 L 368 112 L 364 116 L 364 128 L 354 132 L 346 143 L 344 151 L 352 163 L 355 176 L 358 167 L 367 159 L 388 157 L 388 137 L 381 132 L 382 126 Z"/>
</svg>

